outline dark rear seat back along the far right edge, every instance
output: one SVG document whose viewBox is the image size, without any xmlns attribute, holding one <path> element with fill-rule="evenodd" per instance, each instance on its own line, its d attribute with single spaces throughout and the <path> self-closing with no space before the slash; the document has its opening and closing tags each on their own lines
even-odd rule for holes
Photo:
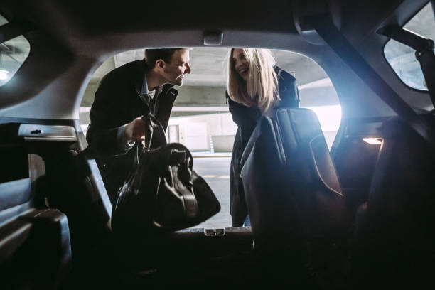
<svg viewBox="0 0 435 290">
<path fill-rule="evenodd" d="M 426 116 L 434 124 L 433 116 Z M 367 204 L 355 224 L 355 284 L 424 285 L 435 259 L 435 151 L 401 119 L 380 128 L 383 141 Z"/>
</svg>

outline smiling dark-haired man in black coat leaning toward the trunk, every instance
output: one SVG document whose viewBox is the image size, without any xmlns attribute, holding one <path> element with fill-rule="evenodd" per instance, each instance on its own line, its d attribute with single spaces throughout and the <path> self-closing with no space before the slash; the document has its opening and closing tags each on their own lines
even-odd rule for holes
<svg viewBox="0 0 435 290">
<path fill-rule="evenodd" d="M 117 192 L 134 161 L 136 141 L 144 141 L 142 116 L 149 113 L 163 128 L 178 94 L 190 73 L 187 48 L 147 49 L 144 60 L 122 65 L 105 75 L 95 92 L 87 129 L 89 149 L 96 156 L 100 173 L 115 205 Z"/>
</svg>

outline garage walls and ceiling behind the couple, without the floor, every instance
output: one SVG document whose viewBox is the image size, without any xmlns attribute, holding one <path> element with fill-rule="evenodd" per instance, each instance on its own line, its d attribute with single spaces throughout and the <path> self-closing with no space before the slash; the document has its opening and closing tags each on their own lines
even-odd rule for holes
<svg viewBox="0 0 435 290">
<path fill-rule="evenodd" d="M 172 110 L 167 132 L 169 141 L 181 141 L 195 151 L 210 151 L 213 150 L 213 139 L 211 138 L 215 134 L 235 134 L 237 127 L 232 122 L 224 97 L 227 52 L 228 48 L 193 48 L 190 51 L 192 73 L 186 77 L 182 87 L 177 87 L 179 94 Z M 340 126 L 341 107 L 328 75 L 320 65 L 304 55 L 285 50 L 272 50 L 272 54 L 279 68 L 296 77 L 301 99 L 300 107 L 312 109 L 317 114 L 326 143 L 331 148 Z M 90 122 L 90 106 L 102 77 L 110 70 L 131 60 L 143 58 L 144 50 L 130 50 L 108 58 L 100 68 L 97 68 L 87 85 L 80 105 L 80 123 L 85 134 Z M 195 101 L 194 104 L 190 99 L 201 100 L 201 103 Z M 204 134 L 207 135 L 205 138 L 207 140 L 203 138 L 202 141 L 198 141 L 200 138 L 196 138 L 198 137 L 196 134 L 200 131 L 210 131 L 204 129 L 208 127 L 205 124 L 210 122 L 218 122 L 221 129 L 215 129 L 217 131 L 213 134 Z M 190 139 L 183 128 L 183 124 L 189 123 L 191 125 L 188 127 L 193 126 L 195 129 L 191 131 L 196 131 L 195 136 Z M 212 128 L 215 127 L 212 126 Z"/>
</svg>

